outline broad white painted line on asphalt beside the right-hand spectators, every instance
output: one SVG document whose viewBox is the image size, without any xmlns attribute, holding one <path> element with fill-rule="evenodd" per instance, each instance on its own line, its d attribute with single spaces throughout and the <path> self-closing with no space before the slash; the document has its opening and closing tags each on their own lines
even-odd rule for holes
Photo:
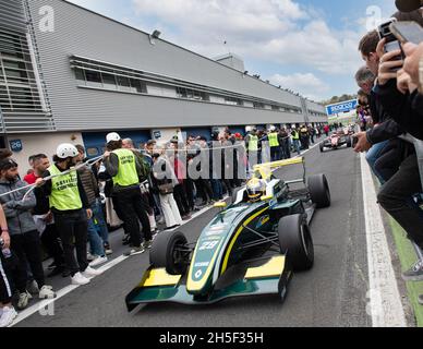
<svg viewBox="0 0 423 349">
<path fill-rule="evenodd" d="M 364 218 L 367 240 L 370 306 L 373 327 L 407 327 L 388 241 L 365 154 L 361 154 Z"/>
</svg>

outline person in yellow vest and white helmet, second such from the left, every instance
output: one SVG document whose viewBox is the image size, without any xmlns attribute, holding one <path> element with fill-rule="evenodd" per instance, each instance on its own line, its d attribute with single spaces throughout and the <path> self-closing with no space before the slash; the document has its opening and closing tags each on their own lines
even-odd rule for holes
<svg viewBox="0 0 423 349">
<path fill-rule="evenodd" d="M 105 167 L 112 178 L 112 195 L 133 244 L 133 248 L 124 254 L 126 256 L 141 254 L 152 246 L 153 241 L 152 227 L 142 203 L 140 188 L 143 167 L 132 151 L 123 148 L 122 139 L 118 133 L 109 133 L 106 141 L 108 151 L 105 153 Z M 140 221 L 143 226 L 144 242 L 140 232 Z"/>
</svg>

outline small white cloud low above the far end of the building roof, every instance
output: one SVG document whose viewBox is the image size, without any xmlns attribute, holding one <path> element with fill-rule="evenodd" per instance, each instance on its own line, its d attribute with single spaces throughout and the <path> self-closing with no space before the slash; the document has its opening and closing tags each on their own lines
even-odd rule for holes
<svg viewBox="0 0 423 349">
<path fill-rule="evenodd" d="M 324 99 L 329 86 L 313 73 L 293 73 L 290 75 L 275 74 L 269 77 L 274 85 L 299 92 L 305 97 L 314 100 Z"/>
</svg>

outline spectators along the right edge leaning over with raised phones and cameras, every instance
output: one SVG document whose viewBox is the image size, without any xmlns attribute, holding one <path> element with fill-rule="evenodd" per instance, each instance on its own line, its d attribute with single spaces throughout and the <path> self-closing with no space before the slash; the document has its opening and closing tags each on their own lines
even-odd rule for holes
<svg viewBox="0 0 423 349">
<path fill-rule="evenodd" d="M 397 21 L 423 26 L 420 2 L 397 0 Z M 365 62 L 355 75 L 361 132 L 355 152 L 366 159 L 380 182 L 378 202 L 406 230 L 418 249 L 423 249 L 422 182 L 418 154 L 411 134 L 423 140 L 423 43 L 400 43 L 387 50 L 378 31 L 367 33 L 359 50 Z M 402 274 L 404 280 L 423 280 L 423 261 Z M 420 297 L 423 304 L 423 297 Z"/>
</svg>

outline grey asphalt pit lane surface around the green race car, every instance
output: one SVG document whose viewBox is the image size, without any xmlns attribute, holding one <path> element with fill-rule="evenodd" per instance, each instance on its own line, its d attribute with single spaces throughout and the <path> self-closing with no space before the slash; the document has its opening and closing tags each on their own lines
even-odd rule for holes
<svg viewBox="0 0 423 349">
<path fill-rule="evenodd" d="M 368 290 L 366 239 L 362 208 L 360 158 L 351 149 L 321 154 L 318 147 L 305 155 L 307 174 L 325 173 L 333 204 L 318 210 L 311 225 L 315 243 L 315 266 L 297 274 L 288 299 L 240 298 L 211 306 L 179 304 L 146 305 L 129 314 L 124 298 L 148 266 L 148 254 L 118 264 L 88 286 L 80 287 L 55 303 L 53 316 L 38 312 L 16 327 L 322 327 L 371 326 L 366 314 Z M 286 179 L 299 170 L 283 169 Z M 299 178 L 299 177 L 298 177 Z M 195 241 L 217 213 L 211 209 L 180 230 Z M 122 233 L 111 236 L 114 256 L 122 254 Z M 50 281 L 56 289 L 69 285 L 60 277 Z"/>
</svg>

